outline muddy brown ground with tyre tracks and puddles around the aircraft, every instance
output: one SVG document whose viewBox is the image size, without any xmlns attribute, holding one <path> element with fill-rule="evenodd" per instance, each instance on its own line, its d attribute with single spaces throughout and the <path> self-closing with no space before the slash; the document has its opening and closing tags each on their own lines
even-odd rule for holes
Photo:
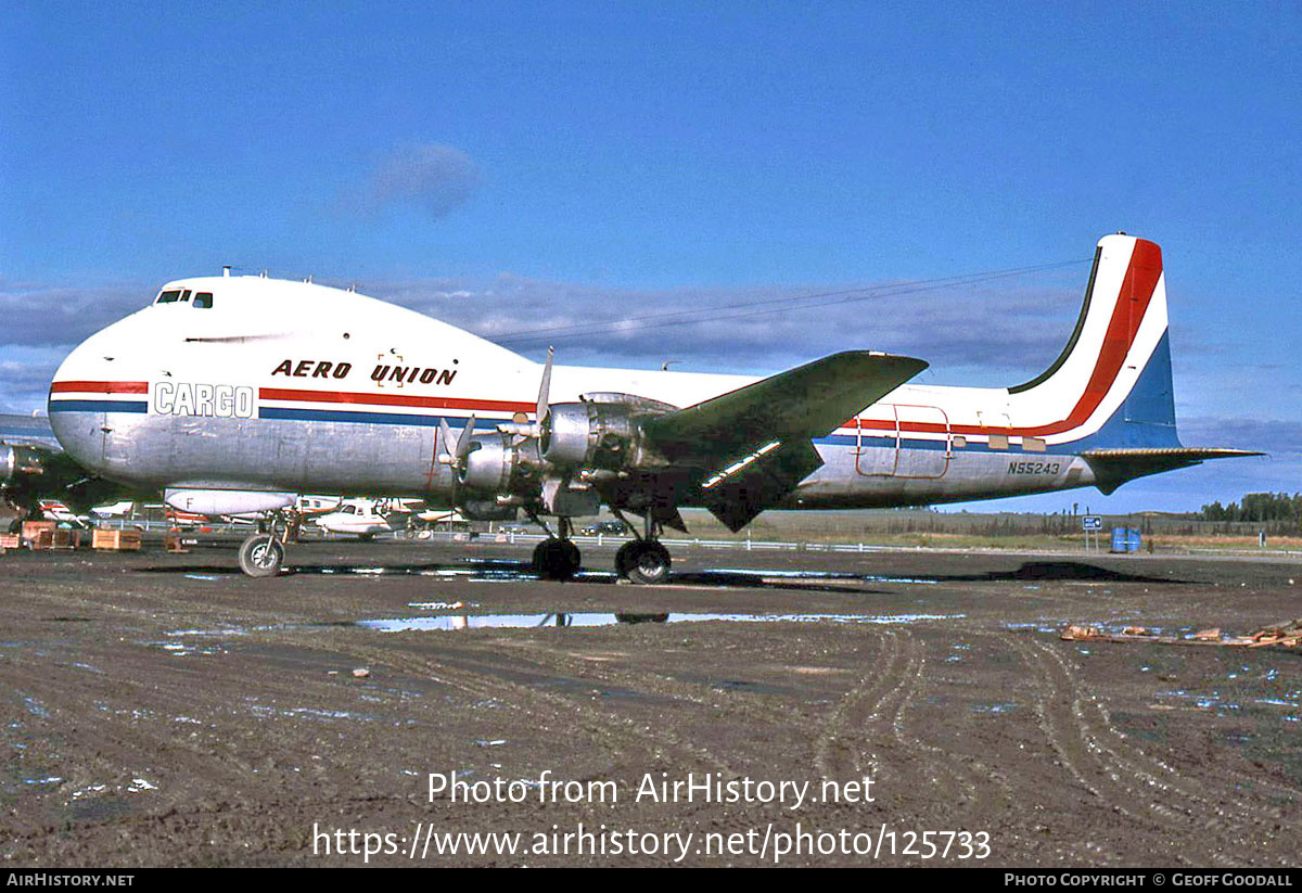
<svg viewBox="0 0 1302 893">
<path fill-rule="evenodd" d="M 1302 616 L 1302 562 L 685 551 L 634 587 L 538 582 L 527 557 L 318 543 L 272 581 L 230 549 L 0 557 L 0 858 L 352 866 L 370 833 L 371 864 L 668 864 L 643 836 L 690 832 L 684 863 L 771 864 L 799 825 L 852 853 L 783 864 L 1298 864 L 1302 653 L 1056 631 L 1251 631 Z M 437 629 L 484 614 L 547 626 Z M 359 625 L 409 618 L 427 629 Z M 430 773 L 526 799 L 431 802 Z M 689 775 L 811 797 L 867 776 L 872 802 L 635 799 Z M 540 802 L 548 780 L 613 784 Z M 579 824 L 604 854 L 538 851 Z M 923 858 L 956 831 L 978 837 Z M 437 855 L 444 832 L 535 850 Z M 979 832 L 988 858 L 960 859 Z"/>
</svg>

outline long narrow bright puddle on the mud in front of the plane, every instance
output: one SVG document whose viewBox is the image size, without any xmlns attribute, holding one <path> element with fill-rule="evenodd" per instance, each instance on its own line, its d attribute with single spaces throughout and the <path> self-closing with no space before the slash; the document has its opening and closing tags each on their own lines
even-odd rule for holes
<svg viewBox="0 0 1302 893">
<path fill-rule="evenodd" d="M 436 614 L 362 620 L 358 626 L 381 633 L 408 630 L 542 629 L 556 626 L 615 626 L 616 624 L 915 624 L 927 620 L 962 620 L 966 614 L 737 614 L 737 613 L 549 613 L 549 614 Z"/>
</svg>

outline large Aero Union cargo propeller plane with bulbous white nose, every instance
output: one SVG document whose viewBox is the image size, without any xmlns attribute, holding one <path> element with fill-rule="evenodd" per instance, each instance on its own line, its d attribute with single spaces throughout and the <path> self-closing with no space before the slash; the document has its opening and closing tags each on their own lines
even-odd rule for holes
<svg viewBox="0 0 1302 893">
<path fill-rule="evenodd" d="M 579 568 L 573 518 L 642 515 L 621 577 L 659 582 L 659 536 L 704 506 L 922 505 L 1095 486 L 1208 458 L 1176 437 L 1161 251 L 1095 253 L 1062 354 L 1012 388 L 907 384 L 927 363 L 868 350 L 772 378 L 544 364 L 353 292 L 256 276 L 184 279 L 59 368 L 49 419 L 104 478 L 208 515 L 264 513 L 251 575 L 280 570 L 299 493 L 419 493 L 467 518 L 525 512 L 538 573 Z M 555 530 L 546 518 L 555 518 Z"/>
</svg>

